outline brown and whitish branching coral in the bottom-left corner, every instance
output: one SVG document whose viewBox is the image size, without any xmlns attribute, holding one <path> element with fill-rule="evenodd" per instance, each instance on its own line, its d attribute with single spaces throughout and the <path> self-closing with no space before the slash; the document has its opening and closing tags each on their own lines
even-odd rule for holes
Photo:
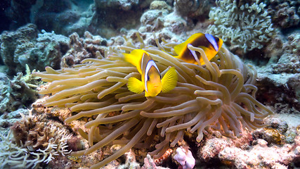
<svg viewBox="0 0 300 169">
<path fill-rule="evenodd" d="M 22 115 L 11 132 L 6 136 L 0 134 L 0 168 L 36 168 L 42 163 L 51 165 L 53 159 L 70 154 L 67 140 L 72 134 L 63 125 L 46 120 L 45 115 Z"/>
</svg>

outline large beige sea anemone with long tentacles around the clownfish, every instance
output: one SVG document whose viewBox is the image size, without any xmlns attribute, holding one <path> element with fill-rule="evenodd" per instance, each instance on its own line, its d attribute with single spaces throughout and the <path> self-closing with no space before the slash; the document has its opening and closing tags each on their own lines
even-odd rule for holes
<svg viewBox="0 0 300 169">
<path fill-rule="evenodd" d="M 129 41 L 119 49 L 111 48 L 105 58 L 87 58 L 75 68 L 47 67 L 46 72 L 35 73 L 51 82 L 40 91 L 53 94 L 46 99 L 45 106 L 67 106 L 76 112 L 66 123 L 89 118 L 85 125 L 89 134 L 80 129 L 79 133 L 89 140 L 91 147 L 73 155 L 91 154 L 108 144 L 124 145 L 91 168 L 100 168 L 133 146 L 150 147 L 156 135 L 158 143 L 149 153 L 154 158 L 181 142 L 185 131 L 197 132 L 197 142 L 209 126 L 228 137 L 240 137 L 242 128 L 263 127 L 263 118 L 272 113 L 255 99 L 256 72 L 226 48 L 208 61 L 202 49 L 190 46 L 204 58 L 202 66 L 181 62 L 168 54 L 166 51 L 171 52 L 174 44 L 162 45 L 157 40 L 157 48 L 141 40 L 140 46 L 156 61 L 162 76 L 169 66 L 176 68 L 178 83 L 171 92 L 155 97 L 129 92 L 129 77 L 141 78 L 133 65 L 122 60 L 122 52 L 136 49 Z"/>
</svg>

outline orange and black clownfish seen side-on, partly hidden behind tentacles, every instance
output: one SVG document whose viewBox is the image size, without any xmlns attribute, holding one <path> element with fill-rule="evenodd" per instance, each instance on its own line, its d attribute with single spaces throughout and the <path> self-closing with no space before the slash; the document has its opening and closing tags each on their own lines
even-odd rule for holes
<svg viewBox="0 0 300 169">
<path fill-rule="evenodd" d="M 200 53 L 191 51 L 190 49 L 188 49 L 188 45 L 193 45 L 195 47 L 200 47 L 201 49 L 203 49 L 210 61 L 211 58 L 214 58 L 214 56 L 216 56 L 218 51 L 221 49 L 222 44 L 223 40 L 218 37 L 214 37 L 210 34 L 196 33 L 190 36 L 185 42 L 174 46 L 174 50 L 176 54 L 178 54 L 178 56 L 174 57 L 180 58 L 187 63 L 194 64 L 197 64 L 196 58 L 198 58 L 201 65 L 204 65 L 205 63 Z"/>
</svg>

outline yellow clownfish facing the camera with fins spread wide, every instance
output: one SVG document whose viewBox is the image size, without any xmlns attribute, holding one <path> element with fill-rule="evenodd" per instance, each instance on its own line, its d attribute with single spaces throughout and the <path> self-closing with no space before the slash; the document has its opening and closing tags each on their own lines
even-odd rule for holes
<svg viewBox="0 0 300 169">
<path fill-rule="evenodd" d="M 124 60 L 136 66 L 141 73 L 141 80 L 130 77 L 127 82 L 129 91 L 141 93 L 145 96 L 157 96 L 160 92 L 169 92 L 177 84 L 178 75 L 174 67 L 170 68 L 162 77 L 155 61 L 142 49 L 135 49 L 130 54 L 124 54 Z"/>
</svg>

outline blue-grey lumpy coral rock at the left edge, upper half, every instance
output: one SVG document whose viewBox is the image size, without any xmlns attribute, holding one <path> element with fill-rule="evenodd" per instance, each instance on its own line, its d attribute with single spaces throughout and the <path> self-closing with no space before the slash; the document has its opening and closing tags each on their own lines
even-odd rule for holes
<svg viewBox="0 0 300 169">
<path fill-rule="evenodd" d="M 8 68 L 8 75 L 24 72 L 26 64 L 37 70 L 44 69 L 46 65 L 60 68 L 60 58 L 68 49 L 67 37 L 54 32 L 38 34 L 33 24 L 1 34 L 0 56 Z"/>
</svg>

